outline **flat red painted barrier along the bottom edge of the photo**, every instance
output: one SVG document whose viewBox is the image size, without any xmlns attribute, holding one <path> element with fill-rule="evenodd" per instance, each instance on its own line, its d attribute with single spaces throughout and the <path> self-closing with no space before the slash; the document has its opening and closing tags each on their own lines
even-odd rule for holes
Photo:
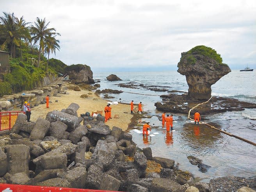
<svg viewBox="0 0 256 192">
<path fill-rule="evenodd" d="M 0 192 L 114 192 L 106 190 L 1 184 Z"/>
</svg>

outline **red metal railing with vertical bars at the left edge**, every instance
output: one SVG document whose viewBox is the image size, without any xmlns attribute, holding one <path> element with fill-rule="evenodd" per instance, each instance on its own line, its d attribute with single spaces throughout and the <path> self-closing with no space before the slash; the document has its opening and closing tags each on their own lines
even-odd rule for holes
<svg viewBox="0 0 256 192">
<path fill-rule="evenodd" d="M 25 114 L 23 111 L 0 112 L 0 131 L 10 130 L 20 113 Z"/>
</svg>

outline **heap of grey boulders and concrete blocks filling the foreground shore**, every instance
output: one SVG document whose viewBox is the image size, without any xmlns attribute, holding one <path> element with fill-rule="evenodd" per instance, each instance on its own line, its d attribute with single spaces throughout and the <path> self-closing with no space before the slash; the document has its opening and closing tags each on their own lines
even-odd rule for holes
<svg viewBox="0 0 256 192">
<path fill-rule="evenodd" d="M 153 157 L 151 148 L 137 148 L 132 135 L 110 129 L 103 116 L 78 117 L 78 108 L 71 103 L 36 122 L 20 114 L 11 133 L 1 132 L 0 182 L 129 192 L 256 189 L 256 176 L 197 182 L 174 160 Z"/>
</svg>

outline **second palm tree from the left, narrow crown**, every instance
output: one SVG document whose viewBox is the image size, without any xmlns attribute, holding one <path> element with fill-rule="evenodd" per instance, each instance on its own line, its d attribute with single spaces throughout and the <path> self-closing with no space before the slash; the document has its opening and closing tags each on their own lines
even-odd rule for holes
<svg viewBox="0 0 256 192">
<path fill-rule="evenodd" d="M 22 59 L 22 48 L 21 45 L 23 44 L 22 40 L 30 40 L 31 36 L 28 30 L 28 27 L 26 27 L 26 25 L 28 25 L 30 22 L 26 23 L 26 21 L 24 20 L 23 16 L 18 19 L 17 17 L 15 18 L 15 23 L 17 25 L 17 29 L 18 29 L 18 34 L 20 36 L 19 40 L 20 40 L 20 52 L 21 52 L 21 61 L 23 61 Z"/>
</svg>

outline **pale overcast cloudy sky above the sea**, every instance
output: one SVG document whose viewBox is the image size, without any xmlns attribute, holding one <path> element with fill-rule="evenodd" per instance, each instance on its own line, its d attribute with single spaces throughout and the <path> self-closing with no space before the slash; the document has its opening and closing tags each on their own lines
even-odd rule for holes
<svg viewBox="0 0 256 192">
<path fill-rule="evenodd" d="M 46 18 L 61 34 L 52 57 L 92 71 L 176 70 L 197 45 L 256 68 L 256 0 L 1 0 L 0 11 Z"/>
</svg>

